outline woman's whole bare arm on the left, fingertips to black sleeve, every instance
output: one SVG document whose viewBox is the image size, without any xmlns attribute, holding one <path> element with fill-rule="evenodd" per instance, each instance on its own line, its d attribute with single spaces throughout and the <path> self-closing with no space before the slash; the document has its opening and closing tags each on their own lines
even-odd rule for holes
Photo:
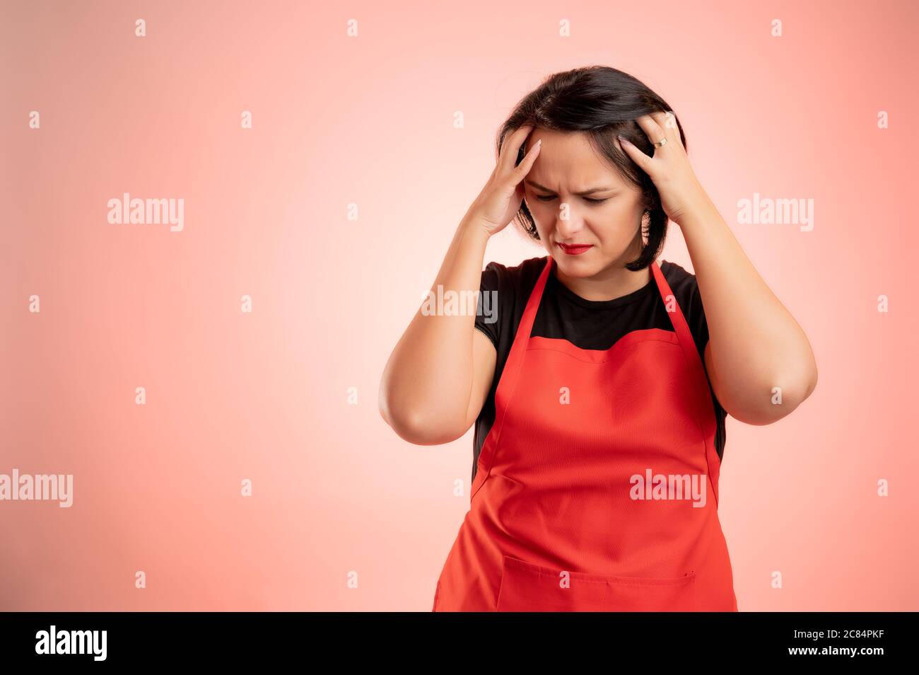
<svg viewBox="0 0 919 675">
<path fill-rule="evenodd" d="M 431 287 L 433 298 L 477 297 L 488 239 L 520 209 L 523 177 L 539 155 L 536 144 L 516 164 L 530 131 L 521 127 L 505 139 L 492 176 L 453 235 Z M 445 302 L 443 309 L 449 306 Z M 497 354 L 475 329 L 475 303 L 455 306 L 457 311 L 439 312 L 437 303 L 423 303 L 380 381 L 380 415 L 401 438 L 418 445 L 447 443 L 466 433 L 494 379 Z"/>
</svg>

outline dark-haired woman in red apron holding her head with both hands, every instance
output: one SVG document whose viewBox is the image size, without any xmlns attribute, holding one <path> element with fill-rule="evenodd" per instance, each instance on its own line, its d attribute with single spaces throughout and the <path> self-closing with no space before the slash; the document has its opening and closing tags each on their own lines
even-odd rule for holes
<svg viewBox="0 0 919 675">
<path fill-rule="evenodd" d="M 434 287 L 496 291 L 497 321 L 484 295 L 475 316 L 419 310 L 392 352 L 380 412 L 399 436 L 445 443 L 477 423 L 436 612 L 737 610 L 717 512 L 724 415 L 785 417 L 817 368 L 669 110 L 608 67 L 525 97 Z M 482 272 L 515 218 L 548 255 Z M 695 275 L 657 263 L 668 221 Z"/>
</svg>

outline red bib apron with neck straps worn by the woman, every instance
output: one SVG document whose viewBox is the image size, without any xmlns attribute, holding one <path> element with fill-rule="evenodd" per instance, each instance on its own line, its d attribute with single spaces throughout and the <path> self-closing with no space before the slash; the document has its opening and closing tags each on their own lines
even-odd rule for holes
<svg viewBox="0 0 919 675">
<path fill-rule="evenodd" d="M 709 380 L 664 274 L 653 262 L 675 332 L 578 349 L 530 336 L 552 265 L 498 382 L 433 611 L 736 612 Z"/>
</svg>

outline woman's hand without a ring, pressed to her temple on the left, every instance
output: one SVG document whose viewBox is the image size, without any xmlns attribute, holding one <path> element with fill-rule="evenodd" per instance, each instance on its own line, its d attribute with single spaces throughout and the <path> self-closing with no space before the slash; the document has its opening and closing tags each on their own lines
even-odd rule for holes
<svg viewBox="0 0 919 675">
<path fill-rule="evenodd" d="M 521 146 L 532 131 L 533 125 L 526 124 L 505 138 L 491 177 L 467 212 L 467 218 L 482 226 L 489 236 L 505 229 L 520 211 L 524 197 L 523 178 L 539 156 L 541 141 L 530 147 L 519 165 L 514 165 Z"/>
</svg>

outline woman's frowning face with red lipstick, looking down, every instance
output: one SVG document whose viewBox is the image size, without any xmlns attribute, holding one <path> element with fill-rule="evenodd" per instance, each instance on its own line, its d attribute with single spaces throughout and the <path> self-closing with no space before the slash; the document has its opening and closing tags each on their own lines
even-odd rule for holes
<svg viewBox="0 0 919 675">
<path fill-rule="evenodd" d="M 525 199 L 559 269 L 571 277 L 592 277 L 637 257 L 641 189 L 601 159 L 584 132 L 536 129 L 527 148 L 540 138 L 539 157 L 524 178 Z M 589 247 L 566 252 L 561 244 Z"/>
</svg>

